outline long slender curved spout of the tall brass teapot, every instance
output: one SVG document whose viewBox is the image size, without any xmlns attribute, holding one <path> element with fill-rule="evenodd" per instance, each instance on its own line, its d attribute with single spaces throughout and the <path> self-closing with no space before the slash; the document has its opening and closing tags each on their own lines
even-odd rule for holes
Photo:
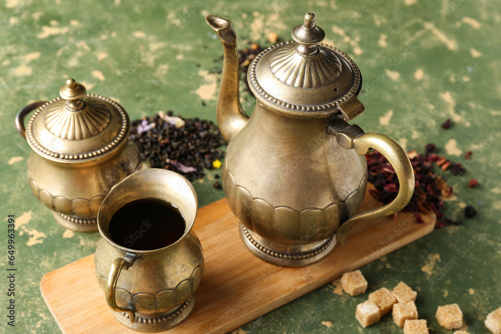
<svg viewBox="0 0 501 334">
<path fill-rule="evenodd" d="M 215 15 L 207 15 L 205 21 L 221 40 L 224 53 L 221 91 L 217 101 L 216 116 L 221 135 L 229 143 L 248 120 L 248 116 L 240 105 L 236 35 L 229 20 Z"/>
</svg>

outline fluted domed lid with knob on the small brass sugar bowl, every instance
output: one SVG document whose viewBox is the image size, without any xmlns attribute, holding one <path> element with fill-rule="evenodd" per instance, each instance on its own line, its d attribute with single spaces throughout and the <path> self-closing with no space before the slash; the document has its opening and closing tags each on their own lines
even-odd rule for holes
<svg viewBox="0 0 501 334">
<path fill-rule="evenodd" d="M 28 121 L 28 143 L 42 157 L 83 163 L 111 154 L 126 142 L 129 116 L 116 102 L 68 79 L 61 97 L 45 103 Z"/>
</svg>

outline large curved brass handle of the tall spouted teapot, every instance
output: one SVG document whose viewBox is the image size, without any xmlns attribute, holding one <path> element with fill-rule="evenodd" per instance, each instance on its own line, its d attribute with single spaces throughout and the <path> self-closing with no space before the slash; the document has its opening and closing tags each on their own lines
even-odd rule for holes
<svg viewBox="0 0 501 334">
<path fill-rule="evenodd" d="M 355 149 L 360 155 L 377 150 L 391 164 L 398 177 L 400 189 L 397 197 L 385 206 L 361 212 L 345 221 L 336 232 L 336 241 L 346 243 L 351 227 L 361 220 L 388 216 L 402 210 L 414 193 L 414 170 L 405 151 L 388 136 L 380 133 L 364 133 L 358 125 L 350 125 L 342 119 L 334 119 L 327 132 L 336 136 L 338 144 L 344 149 Z"/>
</svg>

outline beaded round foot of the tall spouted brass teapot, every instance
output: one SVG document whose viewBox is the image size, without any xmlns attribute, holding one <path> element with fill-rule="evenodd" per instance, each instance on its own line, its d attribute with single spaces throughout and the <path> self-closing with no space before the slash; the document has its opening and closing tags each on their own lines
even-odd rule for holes
<svg viewBox="0 0 501 334">
<path fill-rule="evenodd" d="M 269 240 L 248 230 L 239 224 L 240 237 L 251 253 L 260 259 L 281 267 L 305 267 L 320 261 L 336 246 L 336 237 L 332 236 L 308 244 L 285 244 Z"/>
</svg>

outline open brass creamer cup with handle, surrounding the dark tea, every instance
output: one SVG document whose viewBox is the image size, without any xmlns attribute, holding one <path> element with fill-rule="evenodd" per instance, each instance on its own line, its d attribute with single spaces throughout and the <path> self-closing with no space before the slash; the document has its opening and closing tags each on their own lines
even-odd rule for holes
<svg viewBox="0 0 501 334">
<path fill-rule="evenodd" d="M 179 240 L 160 249 L 136 250 L 111 239 L 113 214 L 142 198 L 162 199 L 179 208 L 186 226 Z M 156 168 L 126 177 L 104 199 L 97 216 L 102 238 L 96 248 L 96 275 L 113 315 L 125 326 L 144 332 L 165 330 L 193 309 L 203 274 L 202 248 L 191 231 L 196 210 L 196 193 L 188 180 Z"/>
</svg>

